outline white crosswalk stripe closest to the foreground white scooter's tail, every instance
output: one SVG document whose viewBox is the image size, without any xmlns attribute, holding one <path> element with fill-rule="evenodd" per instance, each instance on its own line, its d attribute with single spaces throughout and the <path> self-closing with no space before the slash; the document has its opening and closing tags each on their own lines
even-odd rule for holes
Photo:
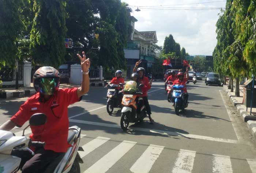
<svg viewBox="0 0 256 173">
<path fill-rule="evenodd" d="M 110 138 L 105 138 L 105 137 L 97 137 L 93 139 L 92 141 L 86 143 L 85 145 L 82 146 L 84 151 L 78 151 L 79 155 L 81 158 L 101 146 L 103 143 L 107 142 Z"/>
</svg>

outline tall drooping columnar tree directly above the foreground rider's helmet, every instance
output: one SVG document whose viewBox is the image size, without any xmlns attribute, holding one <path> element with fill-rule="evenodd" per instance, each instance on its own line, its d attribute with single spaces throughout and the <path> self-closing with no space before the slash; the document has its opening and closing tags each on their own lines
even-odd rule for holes
<svg viewBox="0 0 256 173">
<path fill-rule="evenodd" d="M 59 67 L 64 62 L 67 27 L 64 0 L 35 0 L 30 50 L 35 63 Z"/>
</svg>

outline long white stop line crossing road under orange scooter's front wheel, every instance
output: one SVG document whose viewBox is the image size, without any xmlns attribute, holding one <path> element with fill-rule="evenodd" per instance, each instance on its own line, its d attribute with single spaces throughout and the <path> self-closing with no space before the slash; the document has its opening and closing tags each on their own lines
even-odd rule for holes
<svg viewBox="0 0 256 173">
<path fill-rule="evenodd" d="M 95 125 L 95 126 L 113 127 L 118 129 L 121 128 L 120 125 L 117 125 L 117 124 L 83 121 L 78 119 L 69 119 L 69 122 L 89 124 L 89 125 Z M 152 130 L 152 129 L 146 129 L 146 128 L 140 128 L 140 127 L 132 127 L 132 128 L 128 127 L 128 129 L 135 130 L 135 131 L 138 130 L 138 131 L 145 131 L 145 132 L 151 132 L 151 133 L 159 133 L 162 135 L 172 135 L 172 136 L 181 136 L 185 138 L 203 139 L 203 140 L 215 141 L 215 142 L 225 142 L 225 143 L 234 143 L 234 144 L 238 143 L 237 140 L 233 140 L 233 139 L 214 138 L 214 137 L 201 136 L 201 135 L 195 135 L 195 134 L 184 134 L 184 133 L 178 133 L 176 131 Z"/>
</svg>

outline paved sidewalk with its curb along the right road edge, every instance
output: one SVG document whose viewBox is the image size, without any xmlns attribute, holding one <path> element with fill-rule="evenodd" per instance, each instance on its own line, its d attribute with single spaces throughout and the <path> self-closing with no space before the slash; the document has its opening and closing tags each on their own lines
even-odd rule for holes
<svg viewBox="0 0 256 173">
<path fill-rule="evenodd" d="M 239 86 L 240 88 L 240 97 L 235 97 L 234 92 L 230 92 L 229 89 L 227 89 L 227 85 L 223 86 L 223 90 L 227 92 L 227 95 L 229 96 L 230 100 L 233 102 L 234 106 L 237 108 L 238 114 L 241 116 L 242 120 L 247 123 L 247 127 L 249 128 L 249 131 L 253 135 L 254 139 L 256 139 L 256 108 L 252 108 L 252 116 L 250 116 L 250 108 L 248 108 L 248 111 L 246 111 L 246 106 L 243 103 L 243 87 L 242 85 Z M 235 89 L 234 89 L 235 90 Z"/>
</svg>

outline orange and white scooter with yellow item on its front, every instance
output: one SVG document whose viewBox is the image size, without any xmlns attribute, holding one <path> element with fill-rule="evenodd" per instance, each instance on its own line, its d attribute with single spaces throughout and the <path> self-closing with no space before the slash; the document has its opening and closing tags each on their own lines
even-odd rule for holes
<svg viewBox="0 0 256 173">
<path fill-rule="evenodd" d="M 127 130 L 129 123 L 143 122 L 143 119 L 147 117 L 146 108 L 144 104 L 140 109 L 140 114 L 137 113 L 137 103 L 136 99 L 143 101 L 141 95 L 142 92 L 137 89 L 137 83 L 135 81 L 129 81 L 125 85 L 124 97 L 122 99 L 123 109 L 121 110 L 121 120 L 120 125 L 123 130 Z M 144 84 L 140 84 L 143 87 Z"/>
</svg>

